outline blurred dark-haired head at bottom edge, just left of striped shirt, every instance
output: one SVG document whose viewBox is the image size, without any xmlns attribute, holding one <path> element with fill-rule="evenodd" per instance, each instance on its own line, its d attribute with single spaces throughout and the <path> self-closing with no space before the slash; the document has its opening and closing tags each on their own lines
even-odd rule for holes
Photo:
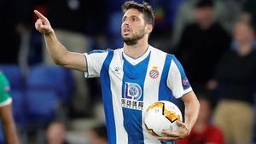
<svg viewBox="0 0 256 144">
<path fill-rule="evenodd" d="M 89 144 L 108 144 L 107 128 L 105 125 L 96 125 L 90 130 Z"/>
</svg>

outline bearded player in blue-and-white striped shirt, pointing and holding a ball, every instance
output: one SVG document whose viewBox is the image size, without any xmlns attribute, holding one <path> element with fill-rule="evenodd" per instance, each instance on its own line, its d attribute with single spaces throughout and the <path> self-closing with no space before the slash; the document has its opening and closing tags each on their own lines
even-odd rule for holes
<svg viewBox="0 0 256 144">
<path fill-rule="evenodd" d="M 56 64 L 84 72 L 86 78 L 101 78 L 109 144 L 172 143 L 189 135 L 198 117 L 199 102 L 175 56 L 148 44 L 154 27 L 154 14 L 148 3 L 124 3 L 123 48 L 88 54 L 68 51 L 58 41 L 49 20 L 37 10 L 34 12 L 38 15 L 35 27 L 44 34 L 49 55 Z M 163 130 L 164 137 L 150 135 L 143 124 L 147 107 L 155 101 L 172 101 L 173 97 L 184 102 L 185 122 L 178 122 L 177 131 Z"/>
</svg>

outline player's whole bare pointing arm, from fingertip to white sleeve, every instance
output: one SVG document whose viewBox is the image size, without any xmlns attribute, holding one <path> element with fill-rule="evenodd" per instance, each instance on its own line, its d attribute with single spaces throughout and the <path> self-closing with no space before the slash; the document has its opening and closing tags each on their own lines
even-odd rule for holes
<svg viewBox="0 0 256 144">
<path fill-rule="evenodd" d="M 39 13 L 38 10 L 34 10 L 34 13 L 38 16 L 35 27 L 38 32 L 44 34 L 46 48 L 52 60 L 55 61 L 55 64 L 86 72 L 87 66 L 84 55 L 68 51 L 55 36 L 49 20 L 43 14 Z"/>
</svg>

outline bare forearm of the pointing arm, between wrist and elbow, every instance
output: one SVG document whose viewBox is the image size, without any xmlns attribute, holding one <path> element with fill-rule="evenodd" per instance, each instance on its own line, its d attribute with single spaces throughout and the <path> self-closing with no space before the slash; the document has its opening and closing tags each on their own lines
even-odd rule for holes
<svg viewBox="0 0 256 144">
<path fill-rule="evenodd" d="M 52 60 L 55 61 L 55 64 L 65 65 L 65 55 L 67 55 L 67 49 L 59 42 L 55 36 L 55 32 L 52 31 L 49 34 L 44 34 L 44 41 L 46 44 L 47 51 L 51 56 Z"/>
</svg>

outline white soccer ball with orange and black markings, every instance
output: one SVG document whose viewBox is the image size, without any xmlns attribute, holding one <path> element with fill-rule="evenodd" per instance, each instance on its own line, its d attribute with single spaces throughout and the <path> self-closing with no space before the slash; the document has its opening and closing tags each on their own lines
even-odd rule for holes
<svg viewBox="0 0 256 144">
<path fill-rule="evenodd" d="M 154 102 L 145 112 L 144 124 L 151 135 L 165 136 L 162 130 L 177 130 L 177 120 L 183 120 L 179 108 L 170 101 Z"/>
</svg>

